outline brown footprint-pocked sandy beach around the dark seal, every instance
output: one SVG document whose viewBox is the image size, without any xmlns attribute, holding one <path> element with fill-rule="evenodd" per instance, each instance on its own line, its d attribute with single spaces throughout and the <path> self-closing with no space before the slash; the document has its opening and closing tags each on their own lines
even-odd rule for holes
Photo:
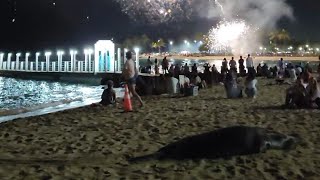
<svg viewBox="0 0 320 180">
<path fill-rule="evenodd" d="M 318 179 L 320 111 L 283 110 L 288 85 L 259 79 L 256 99 L 225 99 L 223 86 L 196 97 L 143 97 L 146 106 L 82 107 L 0 124 L 1 179 Z M 137 104 L 134 102 L 134 104 Z M 150 160 L 149 154 L 185 136 L 232 125 L 297 134 L 290 151 L 228 159 Z"/>
</svg>

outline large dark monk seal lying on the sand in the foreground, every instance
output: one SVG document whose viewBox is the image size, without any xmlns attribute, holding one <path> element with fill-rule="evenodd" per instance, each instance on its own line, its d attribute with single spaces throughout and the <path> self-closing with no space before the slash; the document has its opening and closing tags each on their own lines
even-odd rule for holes
<svg viewBox="0 0 320 180">
<path fill-rule="evenodd" d="M 155 159 L 215 159 L 264 152 L 267 149 L 290 149 L 292 136 L 264 128 L 232 126 L 189 136 L 159 149 L 156 153 L 134 157 L 129 161 Z"/>
</svg>

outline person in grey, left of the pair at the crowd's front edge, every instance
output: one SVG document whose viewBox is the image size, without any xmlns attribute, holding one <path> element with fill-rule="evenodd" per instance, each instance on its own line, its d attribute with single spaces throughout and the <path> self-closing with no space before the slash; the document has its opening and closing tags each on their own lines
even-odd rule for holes
<svg viewBox="0 0 320 180">
<path fill-rule="evenodd" d="M 234 72 L 229 72 L 226 74 L 226 79 L 224 82 L 224 87 L 226 89 L 227 98 L 242 98 L 242 87 L 238 85 L 237 75 Z"/>
</svg>

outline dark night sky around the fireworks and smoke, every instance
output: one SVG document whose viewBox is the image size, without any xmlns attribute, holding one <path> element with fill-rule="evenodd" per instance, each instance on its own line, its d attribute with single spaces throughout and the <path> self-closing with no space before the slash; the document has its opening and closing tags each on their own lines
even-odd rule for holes
<svg viewBox="0 0 320 180">
<path fill-rule="evenodd" d="M 296 20 L 281 21 L 279 26 L 287 28 L 296 39 L 320 42 L 320 0 L 288 0 L 288 3 Z M 191 36 L 206 32 L 213 25 L 208 22 L 193 18 L 168 25 L 137 25 L 112 0 L 1 0 L 0 50 L 84 46 L 97 39 L 121 40 L 144 33 L 153 38 Z"/>
</svg>

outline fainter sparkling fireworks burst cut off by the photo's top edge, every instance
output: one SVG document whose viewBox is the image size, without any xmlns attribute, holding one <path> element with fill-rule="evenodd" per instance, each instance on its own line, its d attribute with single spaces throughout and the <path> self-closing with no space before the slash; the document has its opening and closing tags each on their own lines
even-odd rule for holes
<svg viewBox="0 0 320 180">
<path fill-rule="evenodd" d="M 192 0 L 114 0 L 134 20 L 157 24 L 189 18 Z"/>
</svg>

